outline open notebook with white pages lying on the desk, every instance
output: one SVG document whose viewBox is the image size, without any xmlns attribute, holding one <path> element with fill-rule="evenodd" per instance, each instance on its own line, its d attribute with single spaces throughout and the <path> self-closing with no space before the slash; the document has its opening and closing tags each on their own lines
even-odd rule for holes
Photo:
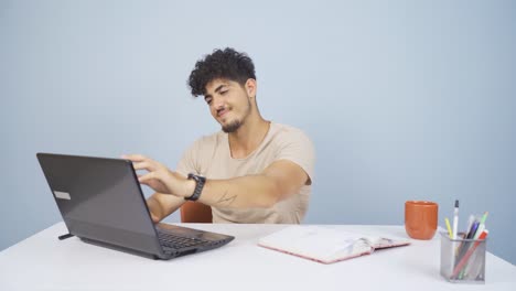
<svg viewBox="0 0 516 291">
<path fill-rule="evenodd" d="M 361 235 L 323 226 L 295 225 L 266 236 L 258 246 L 299 256 L 322 263 L 332 263 L 370 255 L 375 249 L 407 246 L 401 238 Z"/>
</svg>

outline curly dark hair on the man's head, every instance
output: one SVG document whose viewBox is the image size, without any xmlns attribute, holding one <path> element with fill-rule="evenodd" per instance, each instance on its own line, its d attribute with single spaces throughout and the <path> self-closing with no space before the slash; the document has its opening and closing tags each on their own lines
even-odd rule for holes
<svg viewBox="0 0 516 291">
<path fill-rule="evenodd" d="M 214 50 L 212 54 L 195 63 L 189 77 L 189 86 L 194 97 L 206 94 L 206 85 L 216 78 L 225 78 L 243 85 L 254 78 L 255 65 L 246 53 L 232 47 Z"/>
</svg>

